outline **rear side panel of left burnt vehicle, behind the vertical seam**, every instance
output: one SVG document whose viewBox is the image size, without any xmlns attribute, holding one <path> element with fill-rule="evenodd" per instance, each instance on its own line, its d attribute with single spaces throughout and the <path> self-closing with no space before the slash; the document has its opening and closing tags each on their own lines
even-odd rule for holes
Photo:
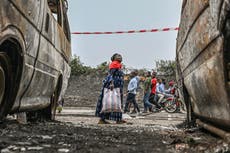
<svg viewBox="0 0 230 153">
<path fill-rule="evenodd" d="M 45 24 L 42 27 L 36 69 L 30 87 L 22 99 L 21 110 L 34 107 L 34 105 L 43 107 L 43 105 L 49 104 L 50 95 L 56 88 L 58 77 L 70 74 L 67 72 L 70 69 L 65 66 L 70 59 L 70 43 L 66 39 L 63 27 L 57 23 L 47 3 L 44 3 L 43 10 L 45 14 L 43 23 Z M 47 18 L 49 18 L 48 22 Z M 68 77 L 64 78 L 68 79 Z M 39 85 L 37 82 L 39 82 Z M 66 80 L 63 82 L 66 82 Z M 33 96 L 31 96 L 32 94 Z M 27 97 L 30 97 L 30 101 L 27 100 Z M 34 98 L 31 99 L 31 97 Z M 37 100 L 38 98 L 41 100 Z"/>
</svg>

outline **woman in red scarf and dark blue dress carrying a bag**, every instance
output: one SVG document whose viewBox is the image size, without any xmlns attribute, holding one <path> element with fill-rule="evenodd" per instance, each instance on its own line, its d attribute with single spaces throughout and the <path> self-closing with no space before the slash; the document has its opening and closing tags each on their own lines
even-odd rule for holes
<svg viewBox="0 0 230 153">
<path fill-rule="evenodd" d="M 100 117 L 100 120 L 98 124 L 108 124 L 109 122 L 107 120 L 114 120 L 117 124 L 119 123 L 125 123 L 124 120 L 122 120 L 122 111 L 121 106 L 123 104 L 123 85 L 124 85 L 124 73 L 122 72 L 122 56 L 120 54 L 114 54 L 111 57 L 112 63 L 109 65 L 109 73 L 107 77 L 103 81 L 103 87 L 101 94 L 99 96 L 97 107 L 96 107 L 96 116 Z M 119 93 L 116 93 L 116 95 L 119 97 L 115 101 L 116 108 L 112 108 L 110 104 L 107 104 L 110 99 L 105 98 L 105 91 L 118 91 Z M 107 101 L 106 101 L 107 100 Z M 105 111 L 107 107 L 107 110 Z M 108 109 L 109 108 L 109 109 Z"/>
</svg>

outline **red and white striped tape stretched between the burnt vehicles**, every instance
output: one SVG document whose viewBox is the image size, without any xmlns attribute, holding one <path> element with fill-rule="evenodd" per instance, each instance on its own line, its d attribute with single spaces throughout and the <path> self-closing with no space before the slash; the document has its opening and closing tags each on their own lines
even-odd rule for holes
<svg viewBox="0 0 230 153">
<path fill-rule="evenodd" d="M 176 31 L 176 28 L 163 28 L 163 29 L 150 29 L 150 30 L 130 30 L 130 31 L 115 31 L 115 32 L 73 32 L 72 34 L 77 35 L 91 35 L 91 34 L 124 34 L 124 33 L 144 33 L 144 32 L 166 32 L 166 31 Z"/>
</svg>

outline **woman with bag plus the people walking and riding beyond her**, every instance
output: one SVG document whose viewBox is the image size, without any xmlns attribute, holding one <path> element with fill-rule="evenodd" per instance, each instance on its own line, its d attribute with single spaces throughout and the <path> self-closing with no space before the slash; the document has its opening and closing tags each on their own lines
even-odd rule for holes
<svg viewBox="0 0 230 153">
<path fill-rule="evenodd" d="M 141 113 L 136 102 L 136 95 L 140 82 L 137 70 L 131 72 L 131 79 L 127 88 L 127 98 L 125 104 L 123 104 L 124 73 L 121 69 L 121 62 L 122 56 L 120 54 L 116 53 L 111 57 L 109 72 L 103 81 L 101 94 L 96 106 L 95 115 L 100 117 L 99 124 L 109 124 L 110 122 L 106 120 L 114 120 L 117 124 L 126 123 L 122 118 L 122 112 L 128 112 L 131 104 L 133 104 L 134 109 L 137 110 L 138 114 Z M 170 85 L 172 84 L 173 83 Z M 156 72 L 154 71 L 152 73 L 146 73 L 143 90 L 143 112 L 147 112 L 148 110 L 154 112 L 156 108 L 160 107 L 163 98 L 169 96 L 172 92 L 170 88 L 165 90 L 164 80 L 157 79 Z M 123 105 L 124 111 L 122 111 Z"/>
</svg>

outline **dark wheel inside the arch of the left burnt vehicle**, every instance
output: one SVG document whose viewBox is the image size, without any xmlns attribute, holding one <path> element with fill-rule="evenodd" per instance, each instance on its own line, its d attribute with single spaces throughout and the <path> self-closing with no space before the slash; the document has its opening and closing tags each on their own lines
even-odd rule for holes
<svg viewBox="0 0 230 153">
<path fill-rule="evenodd" d="M 0 121 L 9 113 L 13 102 L 11 100 L 11 64 L 8 55 L 0 52 Z"/>
</svg>

